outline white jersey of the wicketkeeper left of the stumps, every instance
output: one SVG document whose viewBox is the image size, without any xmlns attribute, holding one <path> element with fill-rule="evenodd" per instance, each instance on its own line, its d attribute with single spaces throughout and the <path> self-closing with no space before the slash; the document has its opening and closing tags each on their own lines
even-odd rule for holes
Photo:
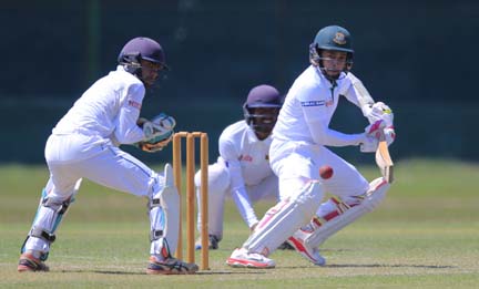
<svg viewBox="0 0 479 289">
<path fill-rule="evenodd" d="M 136 125 L 145 94 L 143 83 L 122 66 L 96 81 L 53 128 L 53 134 L 81 133 L 132 144 L 143 138 Z"/>
</svg>

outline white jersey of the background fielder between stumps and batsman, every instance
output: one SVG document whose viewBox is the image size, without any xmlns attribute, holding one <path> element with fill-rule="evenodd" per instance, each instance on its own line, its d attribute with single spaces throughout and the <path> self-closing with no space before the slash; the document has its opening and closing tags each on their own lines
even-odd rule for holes
<svg viewBox="0 0 479 289">
<path fill-rule="evenodd" d="M 230 172 L 232 167 L 241 167 L 241 176 L 231 176 L 233 189 L 237 185 L 257 185 L 273 174 L 268 157 L 271 142 L 271 136 L 259 141 L 245 121 L 236 122 L 223 131 L 220 136 L 220 157 L 226 162 Z"/>
</svg>

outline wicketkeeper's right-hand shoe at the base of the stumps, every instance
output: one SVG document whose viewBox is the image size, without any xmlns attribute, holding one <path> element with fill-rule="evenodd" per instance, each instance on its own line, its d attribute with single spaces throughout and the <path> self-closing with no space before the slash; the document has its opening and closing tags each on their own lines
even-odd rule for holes
<svg viewBox="0 0 479 289">
<path fill-rule="evenodd" d="M 198 270 L 196 264 L 184 262 L 176 258 L 170 257 L 160 260 L 156 256 L 150 257 L 150 265 L 146 269 L 149 275 L 187 275 L 195 273 Z"/>
</svg>

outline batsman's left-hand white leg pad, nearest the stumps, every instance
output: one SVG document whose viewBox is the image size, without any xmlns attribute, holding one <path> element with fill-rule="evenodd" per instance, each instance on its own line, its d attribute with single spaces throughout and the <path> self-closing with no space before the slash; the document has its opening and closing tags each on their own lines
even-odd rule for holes
<svg viewBox="0 0 479 289">
<path fill-rule="evenodd" d="M 243 248 L 268 256 L 310 220 L 322 198 L 323 189 L 319 183 L 307 183 L 299 194 L 279 202 L 265 214 Z"/>
</svg>

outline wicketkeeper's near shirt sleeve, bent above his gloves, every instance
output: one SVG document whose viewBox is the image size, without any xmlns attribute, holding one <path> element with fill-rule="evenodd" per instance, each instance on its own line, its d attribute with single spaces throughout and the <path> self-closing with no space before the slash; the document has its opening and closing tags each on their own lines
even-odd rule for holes
<svg viewBox="0 0 479 289">
<path fill-rule="evenodd" d="M 114 136 L 121 144 L 137 143 L 144 137 L 143 130 L 136 125 L 144 94 L 144 86 L 140 83 L 130 85 L 126 90 L 115 118 Z"/>
</svg>

